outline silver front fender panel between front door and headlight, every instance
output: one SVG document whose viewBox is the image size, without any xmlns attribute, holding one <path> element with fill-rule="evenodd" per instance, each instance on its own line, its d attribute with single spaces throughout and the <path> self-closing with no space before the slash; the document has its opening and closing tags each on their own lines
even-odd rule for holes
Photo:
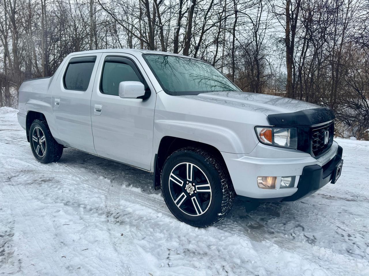
<svg viewBox="0 0 369 276">
<path fill-rule="evenodd" d="M 258 116 L 256 116 L 258 115 Z M 182 138 L 213 146 L 220 152 L 248 154 L 258 144 L 255 124 L 268 125 L 268 117 L 255 111 L 235 109 L 193 97 L 158 93 L 154 116 L 154 155 L 165 136 Z M 251 134 L 251 135 L 250 135 Z"/>
</svg>

